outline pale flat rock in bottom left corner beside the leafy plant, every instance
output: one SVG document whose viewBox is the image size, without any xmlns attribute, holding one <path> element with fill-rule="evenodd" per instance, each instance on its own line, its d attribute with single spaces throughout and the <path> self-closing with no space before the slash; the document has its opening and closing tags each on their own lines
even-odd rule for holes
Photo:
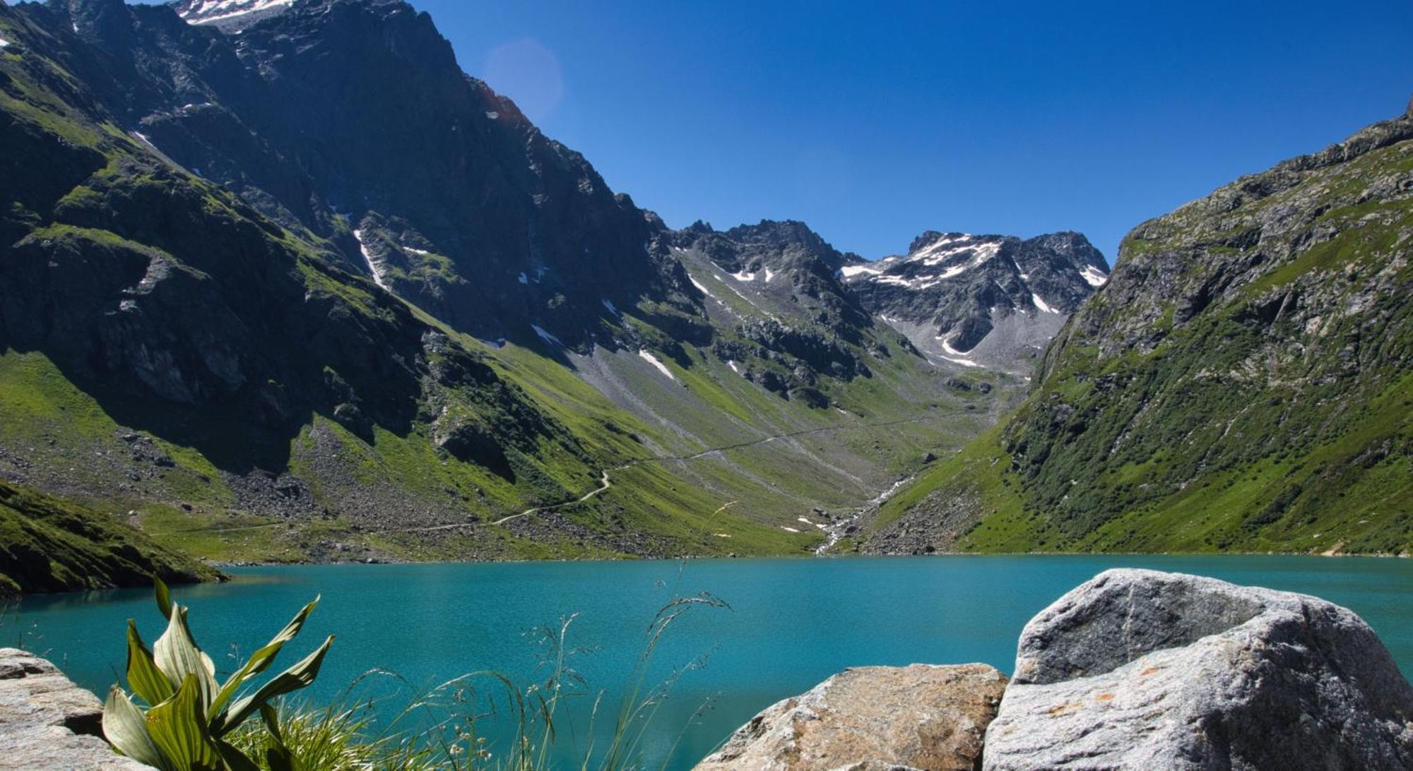
<svg viewBox="0 0 1413 771">
<path fill-rule="evenodd" d="M 147 768 L 100 739 L 103 705 L 52 664 L 0 648 L 0 768 Z"/>
</svg>

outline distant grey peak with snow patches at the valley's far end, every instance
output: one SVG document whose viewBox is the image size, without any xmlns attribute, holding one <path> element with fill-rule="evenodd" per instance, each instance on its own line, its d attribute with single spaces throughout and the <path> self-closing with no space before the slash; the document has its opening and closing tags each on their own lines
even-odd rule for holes
<svg viewBox="0 0 1413 771">
<path fill-rule="evenodd" d="M 928 230 L 907 254 L 842 265 L 863 306 L 928 356 L 1029 376 L 1109 265 L 1080 233 L 1034 239 Z"/>
</svg>

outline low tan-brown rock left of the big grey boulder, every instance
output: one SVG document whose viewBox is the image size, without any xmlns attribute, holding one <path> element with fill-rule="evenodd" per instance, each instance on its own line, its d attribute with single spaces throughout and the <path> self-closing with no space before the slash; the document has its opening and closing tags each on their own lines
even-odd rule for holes
<svg viewBox="0 0 1413 771">
<path fill-rule="evenodd" d="M 846 669 L 752 717 L 697 770 L 971 770 L 1005 688 L 985 664 Z"/>
</svg>

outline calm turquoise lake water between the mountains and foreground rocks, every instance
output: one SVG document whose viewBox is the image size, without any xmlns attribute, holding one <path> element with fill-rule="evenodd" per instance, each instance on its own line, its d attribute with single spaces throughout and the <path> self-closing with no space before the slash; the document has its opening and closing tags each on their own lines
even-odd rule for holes
<svg viewBox="0 0 1413 771">
<path fill-rule="evenodd" d="M 613 713 L 644 633 L 674 594 L 709 592 L 729 609 L 694 607 L 667 633 L 649 679 L 682 669 L 643 739 L 649 768 L 690 768 L 762 707 L 846 667 L 982 661 L 1009 672 L 1022 626 L 1099 570 L 1142 566 L 1320 594 L 1359 613 L 1405 674 L 1413 672 L 1413 561 L 1300 556 L 931 556 L 552 562 L 502 565 L 324 565 L 236 569 L 226 585 L 177 589 L 192 607 L 198 642 L 232 668 L 322 593 L 287 665 L 326 634 L 338 641 L 315 699 L 336 696 L 370 668 L 417 686 L 497 669 L 519 683 L 543 678 L 531 630 L 577 614 L 569 642 L 589 648 L 571 665 L 589 695 L 561 715 L 557 755 L 582 755 L 592 693 Z M 32 597 L 3 627 L 106 692 L 124 662 L 123 628 L 161 633 L 150 590 Z M 391 689 L 383 678 L 379 688 Z M 482 681 L 483 692 L 493 691 Z M 389 703 L 406 703 L 403 686 Z M 397 699 L 401 698 L 398 703 Z M 485 726 L 485 723 L 482 723 Z M 493 741 L 496 739 L 490 730 Z M 602 747 L 602 737 L 599 739 Z"/>
</svg>

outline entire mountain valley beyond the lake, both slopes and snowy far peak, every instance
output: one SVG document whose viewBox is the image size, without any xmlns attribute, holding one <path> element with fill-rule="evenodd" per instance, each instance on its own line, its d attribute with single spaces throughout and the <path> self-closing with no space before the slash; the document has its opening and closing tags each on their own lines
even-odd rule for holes
<svg viewBox="0 0 1413 771">
<path fill-rule="evenodd" d="M 1410 548 L 1409 116 L 1112 271 L 865 260 L 668 227 L 401 1 L 0 38 L 0 479 L 195 558 Z"/>
</svg>

